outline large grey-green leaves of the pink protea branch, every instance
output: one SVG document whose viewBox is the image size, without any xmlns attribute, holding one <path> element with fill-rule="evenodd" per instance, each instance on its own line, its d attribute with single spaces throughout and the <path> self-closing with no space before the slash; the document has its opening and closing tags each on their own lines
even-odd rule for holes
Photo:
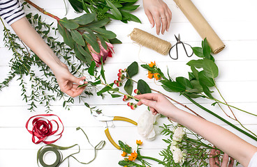
<svg viewBox="0 0 257 167">
<path fill-rule="evenodd" d="M 74 50 L 75 55 L 84 63 L 91 63 L 93 60 L 89 45 L 100 54 L 101 47 L 108 50 L 106 42 L 121 43 L 116 34 L 105 29 L 110 19 L 96 20 L 96 13 L 87 13 L 75 19 L 58 20 L 58 31 L 64 38 L 64 43 Z"/>
</svg>

